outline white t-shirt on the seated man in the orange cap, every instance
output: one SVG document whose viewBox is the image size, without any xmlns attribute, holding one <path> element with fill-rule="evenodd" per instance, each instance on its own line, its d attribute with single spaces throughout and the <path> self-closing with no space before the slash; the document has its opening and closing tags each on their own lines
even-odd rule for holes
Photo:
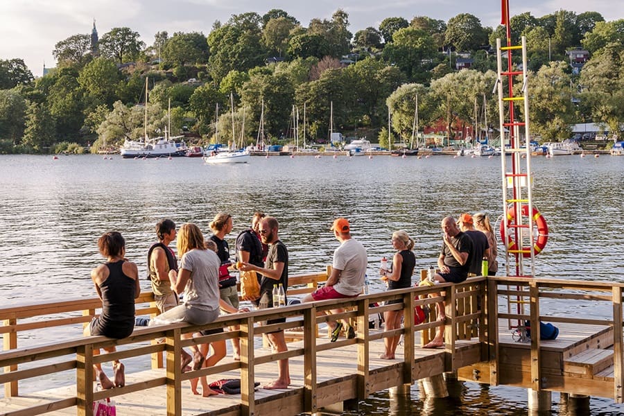
<svg viewBox="0 0 624 416">
<path fill-rule="evenodd" d="M 333 290 L 345 296 L 362 293 L 368 258 L 364 245 L 355 239 L 343 241 L 333 252 L 332 267 L 342 270 Z"/>
</svg>

